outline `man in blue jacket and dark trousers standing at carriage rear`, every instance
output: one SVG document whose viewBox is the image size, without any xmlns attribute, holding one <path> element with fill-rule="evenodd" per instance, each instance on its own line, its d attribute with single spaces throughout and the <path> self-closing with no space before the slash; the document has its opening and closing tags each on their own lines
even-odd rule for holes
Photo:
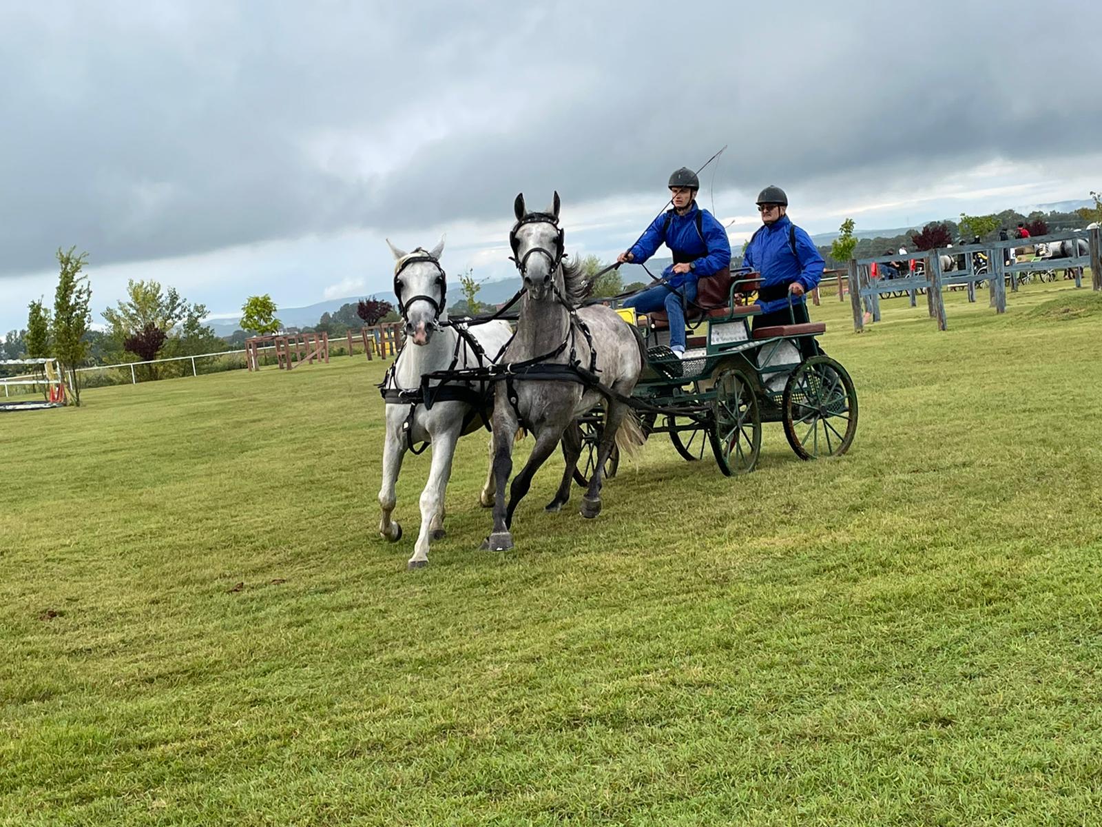
<svg viewBox="0 0 1102 827">
<path fill-rule="evenodd" d="M 767 186 L 757 198 L 761 226 L 746 245 L 743 267 L 761 273 L 757 303 L 761 314 L 754 316 L 755 327 L 790 324 L 789 296 L 796 323 L 810 321 L 804 293 L 819 286 L 823 276 L 823 257 L 811 243 L 811 236 L 789 221 L 788 196 L 779 186 Z"/>
</svg>

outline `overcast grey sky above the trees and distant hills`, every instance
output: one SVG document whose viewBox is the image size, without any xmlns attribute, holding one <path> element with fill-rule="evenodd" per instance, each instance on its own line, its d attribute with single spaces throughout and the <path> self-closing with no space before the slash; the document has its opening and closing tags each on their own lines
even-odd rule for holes
<svg viewBox="0 0 1102 827">
<path fill-rule="evenodd" d="M 212 313 L 385 290 L 383 243 L 507 275 L 512 200 L 563 201 L 611 257 L 669 173 L 754 228 L 810 232 L 1102 189 L 1102 3 L 0 4 L 0 333 L 87 250 L 94 321 L 128 278 Z"/>
</svg>

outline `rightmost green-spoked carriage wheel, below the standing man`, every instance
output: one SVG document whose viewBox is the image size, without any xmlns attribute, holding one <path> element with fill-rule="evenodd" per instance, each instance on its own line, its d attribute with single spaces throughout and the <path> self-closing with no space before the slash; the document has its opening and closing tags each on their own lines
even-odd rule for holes
<svg viewBox="0 0 1102 827">
<path fill-rule="evenodd" d="M 781 398 L 785 437 L 801 460 L 840 457 L 857 431 L 853 379 L 830 356 L 811 356 L 788 377 Z"/>
</svg>

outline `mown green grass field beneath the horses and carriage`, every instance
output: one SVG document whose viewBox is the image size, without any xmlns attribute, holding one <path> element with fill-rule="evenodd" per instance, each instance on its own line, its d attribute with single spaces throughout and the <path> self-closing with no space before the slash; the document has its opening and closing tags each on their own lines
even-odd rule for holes
<svg viewBox="0 0 1102 827">
<path fill-rule="evenodd" d="M 512 552 L 467 438 L 414 572 L 379 362 L 0 415 L 0 824 L 1096 824 L 1102 296 L 1008 302 L 825 298 L 847 457 L 560 460 Z"/>
</svg>

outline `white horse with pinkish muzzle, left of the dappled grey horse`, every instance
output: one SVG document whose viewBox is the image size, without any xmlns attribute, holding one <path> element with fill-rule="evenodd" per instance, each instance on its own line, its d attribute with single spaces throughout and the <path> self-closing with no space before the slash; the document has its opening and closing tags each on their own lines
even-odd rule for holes
<svg viewBox="0 0 1102 827">
<path fill-rule="evenodd" d="M 445 307 L 447 282 L 440 266 L 444 239 L 432 250 L 417 248 L 412 253 L 397 249 L 387 240 L 397 262 L 395 296 L 406 323 L 406 343 L 383 379 L 387 400 L 387 433 L 382 449 L 382 487 L 379 505 L 382 518 L 379 534 L 391 543 L 401 539 L 401 526 L 390 518 L 395 509 L 395 483 L 406 452 L 414 445 L 432 445 L 432 468 L 421 493 L 421 530 L 413 546 L 409 568 L 429 562 L 429 541 L 444 536 L 444 490 L 452 474 L 452 458 L 460 437 L 482 427 L 487 406 L 493 402 L 493 388 L 478 383 L 443 384 L 422 376 L 436 370 L 454 370 L 488 365 L 512 336 L 506 321 L 497 320 L 472 325 L 467 330 L 449 321 Z M 445 389 L 436 389 L 441 388 Z M 404 393 L 403 393 L 404 391 Z M 424 398 L 428 395 L 428 398 Z M 422 449 L 423 450 L 423 447 Z M 480 502 L 494 504 L 493 468 L 483 486 Z"/>
</svg>

